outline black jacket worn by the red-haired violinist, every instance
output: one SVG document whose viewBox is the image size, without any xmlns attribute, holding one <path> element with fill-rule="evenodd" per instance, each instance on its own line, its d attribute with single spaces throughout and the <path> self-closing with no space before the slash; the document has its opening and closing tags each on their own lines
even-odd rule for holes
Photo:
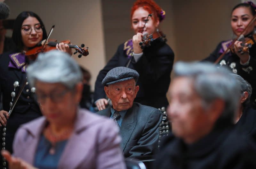
<svg viewBox="0 0 256 169">
<path fill-rule="evenodd" d="M 136 70 L 140 74 L 137 82 L 140 90 L 134 102 L 155 108 L 168 105 L 165 95 L 171 81 L 170 74 L 173 60 L 174 53 L 172 49 L 161 40 L 155 40 L 151 43 L 151 46 L 144 48 L 143 55 L 136 63 L 132 60 L 129 68 Z M 118 46 L 115 55 L 98 74 L 95 82 L 94 101 L 106 98 L 101 82 L 108 71 L 119 66 L 125 67 L 128 61 L 123 43 Z"/>
</svg>

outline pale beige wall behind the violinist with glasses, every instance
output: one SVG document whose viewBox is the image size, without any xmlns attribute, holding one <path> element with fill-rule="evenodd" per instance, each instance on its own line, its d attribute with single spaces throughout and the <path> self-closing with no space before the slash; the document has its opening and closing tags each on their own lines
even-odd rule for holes
<svg viewBox="0 0 256 169">
<path fill-rule="evenodd" d="M 16 18 L 22 11 L 33 11 L 40 16 L 51 38 L 70 39 L 72 44 L 89 47 L 89 55 L 72 57 L 92 73 L 92 89 L 100 69 L 105 65 L 103 24 L 100 0 L 5 0 L 11 9 L 9 18 Z"/>
</svg>

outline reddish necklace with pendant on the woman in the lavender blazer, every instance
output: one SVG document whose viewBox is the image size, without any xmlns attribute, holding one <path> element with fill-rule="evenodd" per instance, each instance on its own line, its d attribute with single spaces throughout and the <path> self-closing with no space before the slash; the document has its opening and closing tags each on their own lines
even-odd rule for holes
<svg viewBox="0 0 256 169">
<path fill-rule="evenodd" d="M 70 133 L 72 132 L 72 129 L 67 129 L 63 131 L 62 133 L 56 135 L 55 133 L 52 132 L 51 128 L 49 125 L 46 127 L 44 130 L 44 136 L 51 142 L 52 146 L 49 150 L 49 153 L 51 155 L 55 154 L 56 152 L 56 143 L 62 140 L 65 140 L 69 137 Z"/>
</svg>

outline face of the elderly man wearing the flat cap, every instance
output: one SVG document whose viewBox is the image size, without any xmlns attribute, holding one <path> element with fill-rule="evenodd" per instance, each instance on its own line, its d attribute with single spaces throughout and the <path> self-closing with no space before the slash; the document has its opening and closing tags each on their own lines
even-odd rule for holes
<svg viewBox="0 0 256 169">
<path fill-rule="evenodd" d="M 104 90 L 108 98 L 111 99 L 113 108 L 116 111 L 122 111 L 132 107 L 139 86 L 135 86 L 135 80 L 130 79 L 105 86 Z"/>
</svg>

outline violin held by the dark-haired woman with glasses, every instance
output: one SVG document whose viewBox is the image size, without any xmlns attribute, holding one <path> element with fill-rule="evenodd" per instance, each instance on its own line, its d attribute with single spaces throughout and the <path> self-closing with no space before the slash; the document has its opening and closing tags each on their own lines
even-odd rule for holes
<svg viewBox="0 0 256 169">
<path fill-rule="evenodd" d="M 70 41 L 69 40 L 64 40 L 64 41 L 61 41 L 63 42 L 64 44 L 68 44 Z M 25 55 L 31 59 L 31 60 L 35 60 L 37 55 L 41 52 L 48 52 L 50 50 L 55 50 L 56 49 L 56 45 L 60 42 L 57 42 L 57 40 L 49 40 L 45 43 L 45 40 L 42 40 L 40 41 L 36 47 L 28 50 Z M 81 46 L 77 46 L 77 45 L 71 45 L 71 44 L 68 44 L 68 46 L 70 48 L 74 48 L 76 49 L 76 52 L 74 52 L 74 54 L 76 54 L 77 52 L 80 53 L 78 55 L 78 58 L 81 58 L 82 56 L 87 56 L 89 54 L 88 52 L 88 47 L 84 48 L 84 44 L 81 44 Z"/>
</svg>

